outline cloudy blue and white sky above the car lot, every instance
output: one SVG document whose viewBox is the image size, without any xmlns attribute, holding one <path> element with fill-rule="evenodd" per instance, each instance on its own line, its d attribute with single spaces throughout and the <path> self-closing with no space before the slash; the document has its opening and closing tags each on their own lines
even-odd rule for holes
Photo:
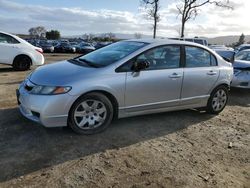
<svg viewBox="0 0 250 188">
<path fill-rule="evenodd" d="M 157 35 L 178 37 L 181 0 L 160 0 Z M 200 8 L 198 17 L 186 24 L 186 37 L 250 34 L 250 0 L 230 0 L 233 10 L 214 5 Z M 0 0 L 0 30 L 27 34 L 29 28 L 57 29 L 63 36 L 85 33 L 152 34 L 140 0 Z"/>
</svg>

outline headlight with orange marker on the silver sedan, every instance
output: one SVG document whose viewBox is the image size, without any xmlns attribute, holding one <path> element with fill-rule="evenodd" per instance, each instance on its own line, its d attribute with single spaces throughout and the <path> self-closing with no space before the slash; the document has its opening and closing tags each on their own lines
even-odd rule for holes
<svg viewBox="0 0 250 188">
<path fill-rule="evenodd" d="M 58 94 L 68 93 L 70 90 L 71 87 L 36 85 L 32 88 L 30 93 L 35 95 L 58 95 Z"/>
</svg>

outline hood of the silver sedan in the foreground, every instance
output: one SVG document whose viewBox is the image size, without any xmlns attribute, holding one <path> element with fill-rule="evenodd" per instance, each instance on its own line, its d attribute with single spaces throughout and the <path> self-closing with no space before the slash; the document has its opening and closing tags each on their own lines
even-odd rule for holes
<svg viewBox="0 0 250 188">
<path fill-rule="evenodd" d="M 37 68 L 29 77 L 37 85 L 70 86 L 72 83 L 94 75 L 96 68 L 61 61 Z"/>
</svg>

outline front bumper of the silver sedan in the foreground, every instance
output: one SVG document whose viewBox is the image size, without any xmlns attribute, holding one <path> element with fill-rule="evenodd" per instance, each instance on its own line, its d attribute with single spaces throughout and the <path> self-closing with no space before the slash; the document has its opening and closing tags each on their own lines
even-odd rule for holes
<svg viewBox="0 0 250 188">
<path fill-rule="evenodd" d="M 69 110 L 76 96 L 33 95 L 21 84 L 17 92 L 19 109 L 26 118 L 40 123 L 45 127 L 67 126 Z"/>
</svg>

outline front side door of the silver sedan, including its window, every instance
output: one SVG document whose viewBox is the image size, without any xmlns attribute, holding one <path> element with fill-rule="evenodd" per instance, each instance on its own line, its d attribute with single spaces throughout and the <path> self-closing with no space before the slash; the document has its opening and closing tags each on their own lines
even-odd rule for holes
<svg viewBox="0 0 250 188">
<path fill-rule="evenodd" d="M 127 72 L 125 109 L 128 112 L 178 105 L 183 79 L 180 54 L 180 46 L 167 45 L 135 58 L 134 61 L 147 60 L 150 65 L 140 72 Z"/>
</svg>

